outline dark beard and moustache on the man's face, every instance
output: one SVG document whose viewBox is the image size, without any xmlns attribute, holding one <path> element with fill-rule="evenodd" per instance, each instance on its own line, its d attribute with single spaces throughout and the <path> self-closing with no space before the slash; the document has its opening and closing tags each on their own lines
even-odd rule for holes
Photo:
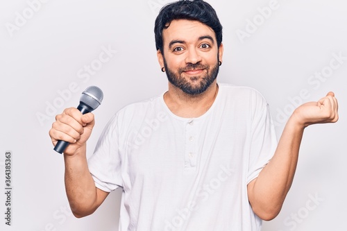
<svg viewBox="0 0 347 231">
<path fill-rule="evenodd" d="M 213 81 L 217 78 L 219 72 L 218 63 L 219 59 L 217 60 L 216 65 L 214 65 L 213 67 L 210 67 L 209 65 L 202 65 L 201 62 L 197 62 L 196 64 L 188 63 L 185 67 L 179 68 L 178 71 L 175 73 L 167 67 L 167 62 L 164 58 L 164 67 L 169 82 L 175 87 L 182 89 L 182 91 L 186 94 L 193 96 L 205 92 L 205 90 L 208 89 L 208 87 L 210 87 Z M 189 81 L 187 80 L 187 78 L 182 76 L 184 71 L 196 69 L 204 69 L 206 71 L 206 74 L 203 77 L 201 77 L 201 80 L 199 80 L 200 77 L 198 76 L 190 76 Z M 196 84 L 193 84 L 192 82 L 195 82 Z"/>
</svg>

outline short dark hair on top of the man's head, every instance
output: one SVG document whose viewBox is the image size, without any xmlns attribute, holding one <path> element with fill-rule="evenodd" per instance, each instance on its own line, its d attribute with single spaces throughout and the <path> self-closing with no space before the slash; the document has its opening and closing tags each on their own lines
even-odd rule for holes
<svg viewBox="0 0 347 231">
<path fill-rule="evenodd" d="M 221 45 L 222 29 L 217 13 L 212 6 L 203 0 L 180 0 L 164 6 L 155 19 L 155 47 L 162 51 L 162 31 L 169 28 L 175 19 L 198 21 L 212 28 L 217 38 L 218 47 Z"/>
</svg>

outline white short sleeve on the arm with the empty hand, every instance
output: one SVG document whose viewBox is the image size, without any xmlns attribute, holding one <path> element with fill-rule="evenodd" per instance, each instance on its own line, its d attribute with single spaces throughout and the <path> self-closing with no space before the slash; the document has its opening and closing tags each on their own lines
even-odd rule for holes
<svg viewBox="0 0 347 231">
<path fill-rule="evenodd" d="M 259 92 L 253 97 L 253 121 L 251 123 L 251 147 L 248 162 L 247 184 L 257 178 L 271 160 L 277 147 L 269 104 Z"/>
</svg>

